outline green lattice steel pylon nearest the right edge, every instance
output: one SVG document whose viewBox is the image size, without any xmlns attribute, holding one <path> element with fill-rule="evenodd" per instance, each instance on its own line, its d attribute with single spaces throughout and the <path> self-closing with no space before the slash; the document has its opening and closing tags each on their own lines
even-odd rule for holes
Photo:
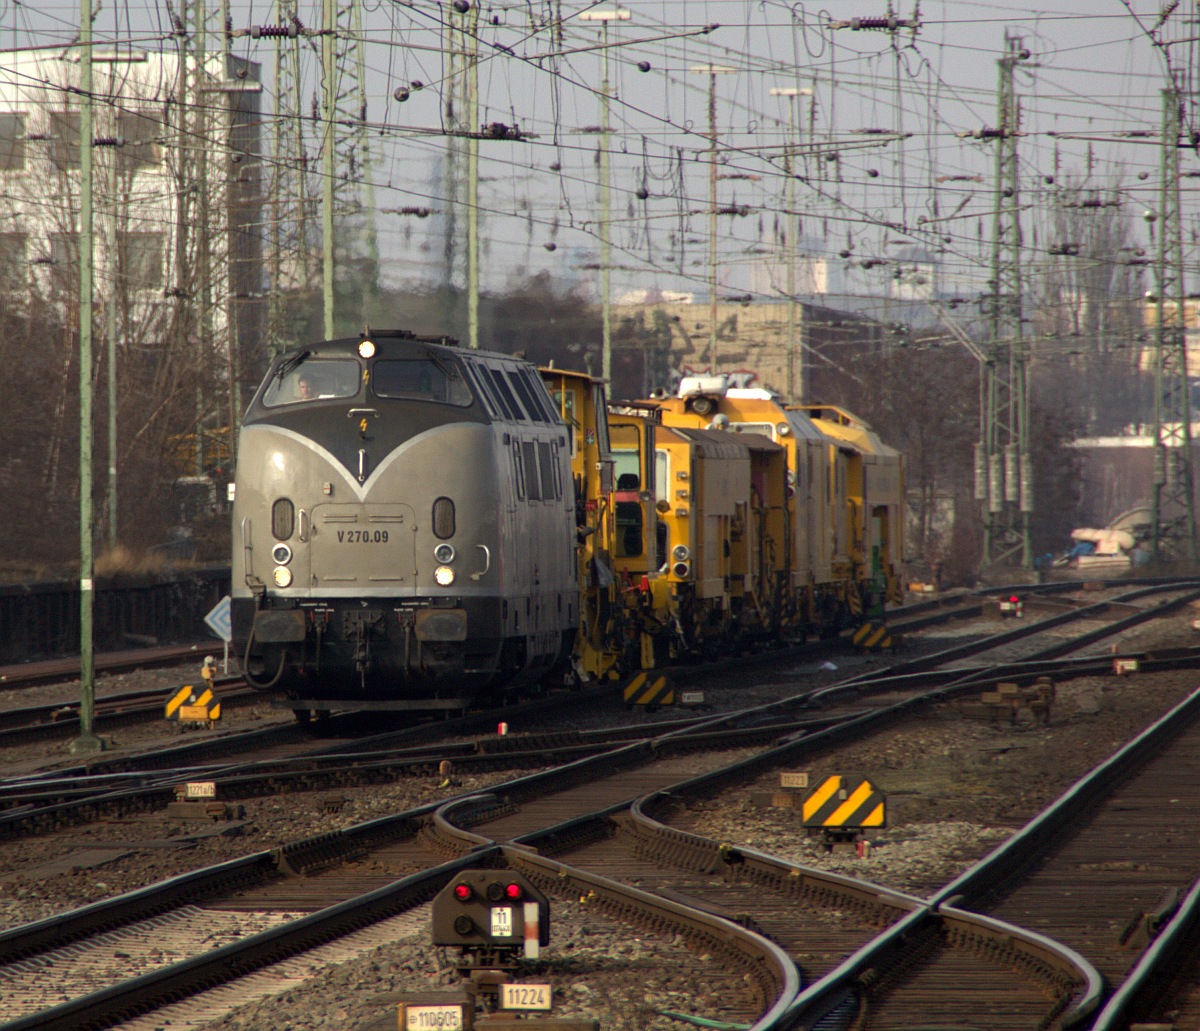
<svg viewBox="0 0 1200 1031">
<path fill-rule="evenodd" d="M 1154 557 L 1196 558 L 1192 474 L 1192 409 L 1183 331 L 1183 233 L 1180 218 L 1181 100 L 1163 90 L 1163 162 L 1159 199 L 1154 334 Z"/>
</svg>

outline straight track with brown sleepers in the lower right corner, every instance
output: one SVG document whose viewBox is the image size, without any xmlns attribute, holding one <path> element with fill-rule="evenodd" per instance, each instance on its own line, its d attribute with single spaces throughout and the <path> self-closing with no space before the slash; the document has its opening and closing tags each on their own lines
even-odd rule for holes
<svg viewBox="0 0 1200 1031">
<path fill-rule="evenodd" d="M 1198 766 L 1200 691 L 931 898 L 938 915 L 1019 924 L 1086 961 L 1093 971 L 1088 981 L 1069 1001 L 1046 1006 L 1037 1026 L 1088 1026 L 1105 985 L 1120 990 L 1096 1027 L 1127 1027 L 1132 1011 L 1189 1026 L 1177 1021 L 1195 1003 L 1195 982 L 1189 984 L 1186 971 L 1189 964 L 1195 969 L 1200 852 L 1190 828 L 1200 811 L 1200 786 L 1192 775 Z M 1184 897 L 1187 905 L 1180 906 Z M 1170 934 L 1158 943 L 1164 924 Z M 1016 960 L 1007 958 L 1008 972 L 971 978 L 964 942 L 949 933 L 932 937 L 923 954 L 888 957 L 876 947 L 863 960 L 882 971 L 870 985 L 830 978 L 810 990 L 805 1013 L 841 1005 L 852 1006 L 854 1017 L 852 1025 L 840 1026 L 911 1026 L 918 1014 L 970 1026 L 986 997 L 995 1014 L 989 1026 L 1006 1026 L 992 1021 L 1018 1012 Z"/>
</svg>

